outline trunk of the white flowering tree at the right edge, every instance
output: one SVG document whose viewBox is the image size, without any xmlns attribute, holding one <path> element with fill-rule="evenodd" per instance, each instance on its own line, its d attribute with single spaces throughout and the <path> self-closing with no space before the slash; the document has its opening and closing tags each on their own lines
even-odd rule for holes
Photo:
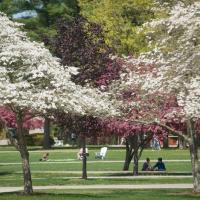
<svg viewBox="0 0 200 200">
<path fill-rule="evenodd" d="M 200 165 L 199 165 L 199 158 L 198 158 L 198 140 L 197 135 L 194 131 L 194 124 L 192 120 L 187 121 L 187 131 L 190 135 L 191 141 L 189 143 L 190 147 L 190 157 L 192 163 L 192 173 L 193 173 L 193 191 L 200 192 Z"/>
</svg>

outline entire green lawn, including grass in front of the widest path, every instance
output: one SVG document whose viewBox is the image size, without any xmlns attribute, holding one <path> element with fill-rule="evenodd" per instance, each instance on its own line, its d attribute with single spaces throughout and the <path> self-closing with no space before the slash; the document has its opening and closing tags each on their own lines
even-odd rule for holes
<svg viewBox="0 0 200 200">
<path fill-rule="evenodd" d="M 165 177 L 159 178 L 116 178 L 119 175 L 117 171 L 122 171 L 125 149 L 108 149 L 105 161 L 95 160 L 94 155 L 98 149 L 89 149 L 87 170 L 88 180 L 80 179 L 82 162 L 76 159 L 78 149 L 53 149 L 49 150 L 50 161 L 39 162 L 39 158 L 44 151 L 40 148 L 30 149 L 30 166 L 32 172 L 33 185 L 102 185 L 102 184 L 162 184 L 162 183 L 192 183 L 192 178 Z M 163 157 L 168 172 L 191 172 L 191 163 L 189 161 L 188 150 L 144 150 L 141 160 L 150 157 L 152 165 L 158 157 Z M 167 160 L 188 160 L 187 162 L 168 162 Z M 106 162 L 111 161 L 111 162 Z M 142 162 L 139 163 L 141 169 Z M 132 172 L 133 164 L 130 165 L 129 172 Z M 100 171 L 103 171 L 103 173 Z M 110 173 L 109 171 L 116 171 Z M 90 178 L 98 176 L 99 178 Z M 109 179 L 101 176 L 109 176 Z M 126 176 L 126 175 L 124 175 Z M 77 177 L 77 178 L 70 178 Z M 19 152 L 13 147 L 0 147 L 0 186 L 23 186 L 23 177 L 21 170 L 21 159 Z M 33 195 L 27 197 L 20 193 L 0 194 L 0 200 L 179 200 L 179 199 L 199 199 L 199 196 L 191 195 L 190 190 L 46 190 L 36 191 Z"/>
</svg>

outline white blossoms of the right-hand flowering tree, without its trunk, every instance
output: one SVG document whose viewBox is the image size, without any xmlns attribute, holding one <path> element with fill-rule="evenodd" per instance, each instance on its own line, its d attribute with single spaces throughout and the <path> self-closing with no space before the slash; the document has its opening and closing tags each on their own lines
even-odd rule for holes
<svg viewBox="0 0 200 200">
<path fill-rule="evenodd" d="M 141 74 L 130 71 L 122 87 L 140 85 L 148 93 L 176 95 L 187 117 L 200 117 L 200 2 L 178 3 L 169 17 L 144 25 L 150 52 L 129 60 L 153 63 L 155 69 Z M 151 37 L 149 37 L 151 36 Z"/>
</svg>

